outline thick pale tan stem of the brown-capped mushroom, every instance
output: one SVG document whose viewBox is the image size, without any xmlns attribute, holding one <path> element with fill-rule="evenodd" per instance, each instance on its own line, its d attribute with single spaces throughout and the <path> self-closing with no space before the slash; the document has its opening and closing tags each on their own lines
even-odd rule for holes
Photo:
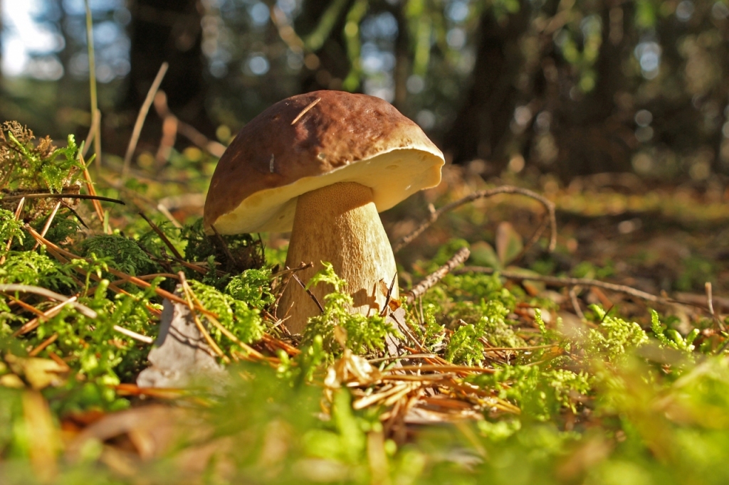
<svg viewBox="0 0 729 485">
<path fill-rule="evenodd" d="M 381 312 L 397 268 L 370 187 L 340 182 L 299 196 L 286 266 L 295 267 L 301 261 L 313 262 L 313 267 L 298 273 L 304 283 L 322 268 L 321 261 L 328 261 L 347 281 L 354 300 L 350 312 Z M 332 291 L 328 286 L 319 283 L 310 288 L 322 304 Z M 397 294 L 396 280 L 391 298 L 397 299 Z M 286 326 L 300 333 L 309 317 L 319 315 L 319 308 L 300 285 L 291 282 L 277 314 L 279 318 L 289 315 Z"/>
</svg>

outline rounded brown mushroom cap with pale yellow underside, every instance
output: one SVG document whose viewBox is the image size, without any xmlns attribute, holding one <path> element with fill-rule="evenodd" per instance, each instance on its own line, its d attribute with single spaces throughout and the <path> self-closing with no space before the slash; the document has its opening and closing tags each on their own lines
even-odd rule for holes
<svg viewBox="0 0 729 485">
<path fill-rule="evenodd" d="M 369 186 L 381 212 L 440 183 L 443 163 L 423 130 L 385 100 L 342 91 L 292 96 L 252 119 L 227 148 L 204 224 L 221 234 L 290 231 L 297 197 L 337 182 Z"/>
</svg>

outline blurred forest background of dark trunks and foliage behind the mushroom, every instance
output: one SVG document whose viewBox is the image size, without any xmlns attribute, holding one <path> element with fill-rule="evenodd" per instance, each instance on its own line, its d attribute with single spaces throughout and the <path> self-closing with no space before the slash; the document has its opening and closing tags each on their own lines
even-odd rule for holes
<svg viewBox="0 0 729 485">
<path fill-rule="evenodd" d="M 57 139 L 85 138 L 85 0 L 0 5 L 0 118 Z M 469 162 L 487 177 L 504 170 L 563 180 L 634 172 L 723 189 L 729 174 L 727 0 L 89 6 L 104 162 L 111 165 L 114 157 L 120 162 L 139 106 L 167 61 L 161 90 L 168 110 L 195 131 L 160 154 L 163 120 L 150 115 L 134 157 L 141 167 L 174 159 L 195 133 L 225 145 L 289 95 L 335 89 L 391 101 L 453 162 Z M 203 151 L 204 139 L 197 139 Z"/>
</svg>

